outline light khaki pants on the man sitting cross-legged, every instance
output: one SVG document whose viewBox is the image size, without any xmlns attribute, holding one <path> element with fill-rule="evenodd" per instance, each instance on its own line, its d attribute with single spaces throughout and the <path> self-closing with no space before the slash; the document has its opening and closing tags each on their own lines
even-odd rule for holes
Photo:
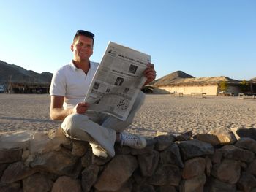
<svg viewBox="0 0 256 192">
<path fill-rule="evenodd" d="M 125 121 L 99 112 L 86 112 L 86 115 L 68 115 L 61 124 L 61 128 L 67 137 L 100 145 L 113 157 L 116 132 L 124 131 L 132 124 L 135 113 L 140 109 L 144 99 L 145 94 L 140 91 Z"/>
</svg>

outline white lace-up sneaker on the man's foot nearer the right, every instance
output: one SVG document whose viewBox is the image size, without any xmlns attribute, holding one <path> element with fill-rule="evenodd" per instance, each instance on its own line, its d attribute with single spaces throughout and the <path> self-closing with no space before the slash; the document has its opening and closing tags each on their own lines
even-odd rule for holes
<svg viewBox="0 0 256 192">
<path fill-rule="evenodd" d="M 146 147 L 147 142 L 144 137 L 140 137 L 135 134 L 126 134 L 124 132 L 121 135 L 121 145 L 126 145 L 135 149 L 143 149 Z"/>
</svg>

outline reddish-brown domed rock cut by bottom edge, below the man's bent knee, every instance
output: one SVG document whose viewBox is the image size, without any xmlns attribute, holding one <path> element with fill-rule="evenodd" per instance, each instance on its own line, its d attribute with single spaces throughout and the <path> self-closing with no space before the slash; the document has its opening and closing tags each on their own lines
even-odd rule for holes
<svg viewBox="0 0 256 192">
<path fill-rule="evenodd" d="M 51 192 L 82 192 L 79 180 L 72 179 L 67 176 L 61 176 L 53 184 Z"/>
</svg>

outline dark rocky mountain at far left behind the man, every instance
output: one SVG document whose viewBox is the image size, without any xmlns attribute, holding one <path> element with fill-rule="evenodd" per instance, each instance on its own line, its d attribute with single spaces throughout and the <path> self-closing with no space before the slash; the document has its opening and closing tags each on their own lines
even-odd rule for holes
<svg viewBox="0 0 256 192">
<path fill-rule="evenodd" d="M 26 70 L 20 66 L 7 64 L 0 60 L 0 85 L 8 82 L 22 83 L 50 83 L 53 74 L 42 72 L 41 74 Z"/>
</svg>

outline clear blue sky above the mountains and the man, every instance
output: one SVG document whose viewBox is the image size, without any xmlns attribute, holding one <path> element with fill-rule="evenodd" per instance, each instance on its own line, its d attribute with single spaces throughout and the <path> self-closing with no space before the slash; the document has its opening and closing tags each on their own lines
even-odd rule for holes
<svg viewBox="0 0 256 192">
<path fill-rule="evenodd" d="M 95 34 L 92 61 L 109 41 L 151 55 L 157 78 L 256 77 L 255 0 L 0 0 L 0 60 L 55 72 L 72 59 L 78 29 Z"/>
</svg>

